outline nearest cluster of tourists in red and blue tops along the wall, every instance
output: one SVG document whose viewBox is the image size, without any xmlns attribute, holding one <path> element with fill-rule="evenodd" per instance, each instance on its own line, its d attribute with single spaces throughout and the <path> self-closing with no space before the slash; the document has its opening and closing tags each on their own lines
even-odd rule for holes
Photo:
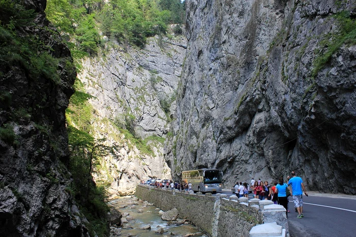
<svg viewBox="0 0 356 237">
<path fill-rule="evenodd" d="M 293 204 L 295 211 L 298 212 L 297 218 L 303 218 L 303 191 L 306 196 L 308 193 L 303 184 L 301 177 L 295 175 L 295 172 L 291 172 L 291 178 L 287 176 L 287 183 L 284 182 L 283 177 L 278 179 L 278 182 L 274 182 L 274 186 L 271 187 L 268 181 L 261 182 L 261 179 L 255 181 L 251 180 L 251 188 L 253 190 L 254 198 L 260 200 L 267 199 L 272 200 L 274 204 L 283 205 L 286 210 L 286 216 L 288 217 L 289 205 L 288 196 L 293 197 Z"/>
</svg>

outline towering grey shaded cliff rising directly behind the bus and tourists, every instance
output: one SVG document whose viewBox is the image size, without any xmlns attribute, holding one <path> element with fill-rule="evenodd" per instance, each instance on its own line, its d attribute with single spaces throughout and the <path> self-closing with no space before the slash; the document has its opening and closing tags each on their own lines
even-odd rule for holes
<svg viewBox="0 0 356 237">
<path fill-rule="evenodd" d="M 355 194 L 354 9 L 187 1 L 187 58 L 165 150 L 173 178 L 214 167 L 229 186 L 295 170 L 309 190 Z"/>
</svg>

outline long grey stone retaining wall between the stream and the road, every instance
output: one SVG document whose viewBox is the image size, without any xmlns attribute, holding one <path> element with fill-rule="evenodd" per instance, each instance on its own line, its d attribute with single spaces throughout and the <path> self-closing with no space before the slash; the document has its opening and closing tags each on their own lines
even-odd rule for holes
<svg viewBox="0 0 356 237">
<path fill-rule="evenodd" d="M 248 200 L 225 194 L 188 194 L 145 185 L 136 187 L 136 196 L 153 203 L 163 211 L 176 208 L 179 218 L 190 220 L 214 237 L 249 236 L 252 227 L 263 223 L 275 223 L 288 233 L 285 209 L 281 205 L 271 204 L 273 202 L 268 200 Z"/>
</svg>

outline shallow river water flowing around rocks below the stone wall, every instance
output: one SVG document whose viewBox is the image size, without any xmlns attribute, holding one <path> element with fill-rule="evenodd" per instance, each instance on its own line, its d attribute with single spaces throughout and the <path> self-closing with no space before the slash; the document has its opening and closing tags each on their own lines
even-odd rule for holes
<svg viewBox="0 0 356 237">
<path fill-rule="evenodd" d="M 136 203 L 136 204 L 134 204 Z M 163 221 L 159 214 L 160 209 L 154 205 L 145 205 L 143 201 L 136 200 L 133 196 L 120 197 L 109 202 L 110 206 L 114 206 L 115 209 L 122 214 L 129 214 L 126 219 L 127 223 L 124 223 L 120 228 L 111 227 L 110 236 L 205 236 L 194 225 L 185 222 L 181 225 L 170 225 L 168 221 Z M 138 212 L 142 209 L 143 212 Z M 124 217 L 123 217 L 124 218 Z M 131 220 L 133 219 L 133 220 Z M 180 219 L 178 219 L 180 221 Z M 151 230 L 141 229 L 144 226 L 150 225 Z M 156 231 L 162 227 L 164 229 L 163 234 L 156 233 Z"/>
</svg>

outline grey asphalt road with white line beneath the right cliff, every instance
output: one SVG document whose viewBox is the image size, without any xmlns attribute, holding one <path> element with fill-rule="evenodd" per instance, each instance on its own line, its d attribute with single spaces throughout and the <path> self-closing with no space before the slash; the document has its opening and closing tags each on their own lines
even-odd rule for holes
<svg viewBox="0 0 356 237">
<path fill-rule="evenodd" d="M 230 190 L 222 193 L 231 195 Z M 289 197 L 288 225 L 290 237 L 354 237 L 356 236 L 356 197 L 308 192 L 303 196 L 304 218 L 296 218 Z M 249 194 L 252 198 L 252 195 Z"/>
</svg>

